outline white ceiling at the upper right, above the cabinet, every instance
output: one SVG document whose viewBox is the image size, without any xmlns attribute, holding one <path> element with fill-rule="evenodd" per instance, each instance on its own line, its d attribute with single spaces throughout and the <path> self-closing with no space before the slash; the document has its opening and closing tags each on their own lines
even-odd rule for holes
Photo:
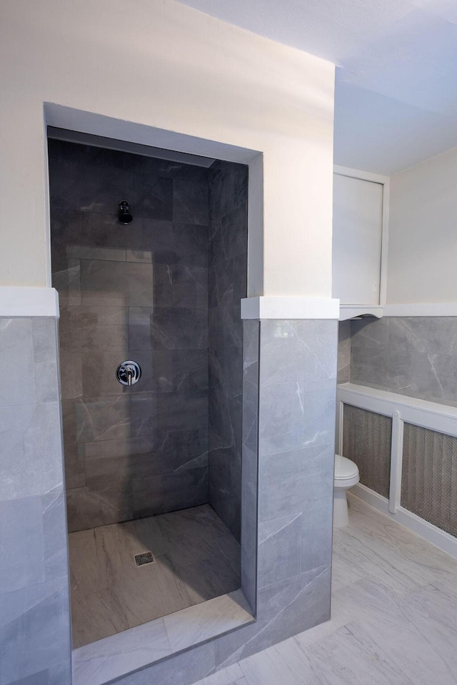
<svg viewBox="0 0 457 685">
<path fill-rule="evenodd" d="M 335 163 L 391 174 L 457 146 L 457 0 L 179 0 L 333 61 Z"/>
</svg>

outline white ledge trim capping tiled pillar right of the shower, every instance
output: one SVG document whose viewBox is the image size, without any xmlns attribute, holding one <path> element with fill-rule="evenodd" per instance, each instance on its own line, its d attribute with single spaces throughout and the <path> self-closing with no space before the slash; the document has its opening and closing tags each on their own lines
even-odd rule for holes
<svg viewBox="0 0 457 685">
<path fill-rule="evenodd" d="M 241 300 L 242 319 L 338 319 L 332 298 L 256 297 Z"/>
</svg>

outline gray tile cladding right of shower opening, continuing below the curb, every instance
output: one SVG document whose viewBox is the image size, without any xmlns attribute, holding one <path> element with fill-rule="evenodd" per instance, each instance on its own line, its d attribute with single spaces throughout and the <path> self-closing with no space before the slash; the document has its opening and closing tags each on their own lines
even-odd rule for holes
<svg viewBox="0 0 457 685">
<path fill-rule="evenodd" d="M 243 446 L 254 449 L 259 438 L 256 622 L 121 678 L 119 685 L 189 685 L 330 617 L 337 322 L 244 326 L 251 407 Z M 257 460 L 247 463 L 256 470 Z M 256 475 L 246 481 L 243 475 L 243 487 L 249 482 Z M 246 499 L 256 509 L 256 497 Z M 243 518 L 243 531 L 244 524 Z"/>
</svg>

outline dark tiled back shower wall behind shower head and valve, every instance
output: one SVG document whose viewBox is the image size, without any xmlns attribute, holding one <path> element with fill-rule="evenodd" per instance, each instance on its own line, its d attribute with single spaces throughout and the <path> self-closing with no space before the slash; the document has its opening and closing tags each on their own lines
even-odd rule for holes
<svg viewBox="0 0 457 685">
<path fill-rule="evenodd" d="M 49 141 L 49 174 L 69 531 L 204 504 L 208 170 Z"/>
</svg>

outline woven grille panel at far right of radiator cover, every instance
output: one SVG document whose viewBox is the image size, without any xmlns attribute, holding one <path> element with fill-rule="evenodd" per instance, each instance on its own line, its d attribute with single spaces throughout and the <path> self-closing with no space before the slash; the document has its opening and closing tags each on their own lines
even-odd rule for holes
<svg viewBox="0 0 457 685">
<path fill-rule="evenodd" d="M 401 506 L 457 537 L 457 437 L 405 423 Z"/>
</svg>

